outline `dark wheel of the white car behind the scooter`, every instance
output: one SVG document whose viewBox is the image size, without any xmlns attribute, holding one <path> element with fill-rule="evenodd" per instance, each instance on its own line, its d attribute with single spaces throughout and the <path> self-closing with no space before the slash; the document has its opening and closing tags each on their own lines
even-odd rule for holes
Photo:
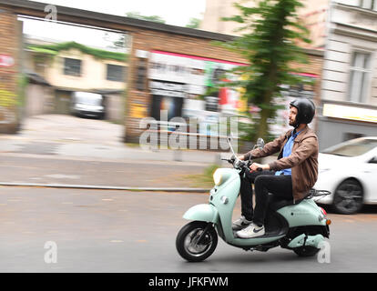
<svg viewBox="0 0 377 291">
<path fill-rule="evenodd" d="M 362 186 L 354 179 L 341 182 L 334 193 L 333 206 L 338 213 L 352 215 L 362 209 Z"/>
</svg>

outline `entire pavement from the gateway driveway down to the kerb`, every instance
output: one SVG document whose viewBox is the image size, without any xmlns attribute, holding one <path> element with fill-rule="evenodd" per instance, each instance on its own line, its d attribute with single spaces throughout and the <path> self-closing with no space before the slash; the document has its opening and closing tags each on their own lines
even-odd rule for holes
<svg viewBox="0 0 377 291">
<path fill-rule="evenodd" d="M 0 185 L 192 191 L 188 176 L 220 163 L 218 152 L 144 150 L 122 134 L 122 125 L 96 119 L 29 118 L 19 134 L 0 135 Z"/>
</svg>

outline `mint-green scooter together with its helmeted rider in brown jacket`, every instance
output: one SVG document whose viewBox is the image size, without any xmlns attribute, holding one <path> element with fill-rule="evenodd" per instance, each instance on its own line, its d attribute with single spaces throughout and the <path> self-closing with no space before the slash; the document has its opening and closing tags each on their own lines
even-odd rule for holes
<svg viewBox="0 0 377 291">
<path fill-rule="evenodd" d="M 183 215 L 191 222 L 180 228 L 176 238 L 180 256 L 189 262 L 205 260 L 215 251 L 218 236 L 230 246 L 251 251 L 266 252 L 281 246 L 298 256 L 314 256 L 321 250 L 325 238 L 330 237 L 331 220 L 312 198 L 331 193 L 311 189 L 317 179 L 318 156 L 317 136 L 307 125 L 313 115 L 311 101 L 291 102 L 290 125 L 295 130 L 267 145 L 259 139 L 256 146 L 260 149 L 250 151 L 243 156 L 243 161 L 235 155 L 228 138 L 232 156 L 225 160 L 232 168 L 218 168 L 213 174 L 215 185 L 209 191 L 208 203 L 191 206 Z M 252 164 L 254 157 L 279 151 L 279 159 L 269 165 Z M 290 174 L 284 172 L 285 169 L 290 169 Z M 242 181 L 245 173 L 246 183 Z M 256 189 L 255 214 L 251 187 L 250 192 L 245 192 L 251 182 Z M 270 193 L 273 193 L 272 197 Z M 242 195 L 243 217 L 232 223 L 239 194 Z M 247 215 L 250 215 L 249 221 L 244 218 Z M 236 227 L 239 231 L 234 229 Z"/>
</svg>

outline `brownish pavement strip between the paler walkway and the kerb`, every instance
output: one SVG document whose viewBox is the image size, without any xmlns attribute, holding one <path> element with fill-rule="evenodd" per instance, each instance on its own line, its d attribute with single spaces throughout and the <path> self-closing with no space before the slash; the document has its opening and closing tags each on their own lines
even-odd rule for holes
<svg viewBox="0 0 377 291">
<path fill-rule="evenodd" d="M 0 153 L 0 183 L 81 186 L 200 187 L 190 176 L 207 165 L 174 161 L 96 161 Z"/>
</svg>

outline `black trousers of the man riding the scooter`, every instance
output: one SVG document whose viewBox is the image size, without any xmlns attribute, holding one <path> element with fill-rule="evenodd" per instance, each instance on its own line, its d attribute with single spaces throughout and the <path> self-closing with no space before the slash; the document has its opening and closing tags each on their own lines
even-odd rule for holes
<svg viewBox="0 0 377 291">
<path fill-rule="evenodd" d="M 255 189 L 255 209 L 252 207 L 252 187 Z M 250 173 L 241 178 L 239 189 L 241 198 L 241 214 L 246 219 L 252 220 L 257 226 L 264 224 L 266 210 L 269 203 L 269 193 L 281 199 L 293 199 L 292 179 L 290 175 L 275 176 L 274 171 L 261 171 Z"/>
</svg>

